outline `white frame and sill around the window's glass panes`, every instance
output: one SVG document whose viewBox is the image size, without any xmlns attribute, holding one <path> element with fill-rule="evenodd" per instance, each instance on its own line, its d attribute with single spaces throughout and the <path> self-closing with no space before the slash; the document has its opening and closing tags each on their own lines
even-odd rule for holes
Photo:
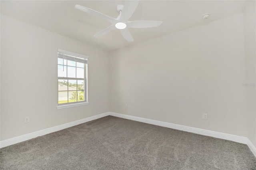
<svg viewBox="0 0 256 170">
<path fill-rule="evenodd" d="M 63 49 L 58 49 L 58 53 L 64 53 L 66 55 L 73 56 L 74 58 L 79 57 L 79 58 L 82 58 L 82 59 L 87 59 L 87 61 L 88 61 L 88 56 L 86 56 L 86 55 L 66 51 L 66 50 L 63 50 Z M 59 58 L 59 56 L 57 57 L 57 59 L 58 58 Z M 68 107 L 76 107 L 76 106 L 82 106 L 82 105 L 88 105 L 89 104 L 89 102 L 88 102 L 88 63 L 84 63 L 84 72 L 85 72 L 84 73 L 84 76 L 85 76 L 84 79 L 82 79 L 82 78 L 71 78 L 71 77 L 68 77 L 68 74 L 67 74 L 67 77 L 58 77 L 58 80 L 59 79 L 84 80 L 84 82 L 85 82 L 84 83 L 84 94 L 86 94 L 86 96 L 84 96 L 84 101 L 58 104 L 58 106 L 56 107 L 57 109 L 64 109 L 64 108 L 68 108 Z M 57 89 L 57 91 L 58 91 L 58 89 Z"/>
</svg>

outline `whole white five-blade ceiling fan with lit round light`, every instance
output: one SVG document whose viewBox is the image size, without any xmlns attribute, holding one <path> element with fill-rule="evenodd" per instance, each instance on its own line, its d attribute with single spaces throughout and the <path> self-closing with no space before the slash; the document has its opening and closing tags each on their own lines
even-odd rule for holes
<svg viewBox="0 0 256 170">
<path fill-rule="evenodd" d="M 132 14 L 134 13 L 135 9 L 138 6 L 139 1 L 138 0 L 126 0 L 124 5 L 118 5 L 117 10 L 120 12 L 119 16 L 117 18 L 111 18 L 109 16 L 106 16 L 100 12 L 97 12 L 95 10 L 92 10 L 90 8 L 76 5 L 75 8 L 78 10 L 81 10 L 83 12 L 86 12 L 88 14 L 97 16 L 99 18 L 102 18 L 104 20 L 107 20 L 112 25 L 108 28 L 101 30 L 97 34 L 94 35 L 94 37 L 102 36 L 111 30 L 119 29 L 121 31 L 122 36 L 128 41 L 133 42 L 132 35 L 130 34 L 129 28 L 150 28 L 150 27 L 156 27 L 160 26 L 162 24 L 162 21 L 128 21 Z"/>
</svg>

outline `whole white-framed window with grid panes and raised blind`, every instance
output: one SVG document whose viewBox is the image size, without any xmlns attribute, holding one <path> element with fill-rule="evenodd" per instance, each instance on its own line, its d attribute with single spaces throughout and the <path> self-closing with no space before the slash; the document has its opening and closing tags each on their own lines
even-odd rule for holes
<svg viewBox="0 0 256 170">
<path fill-rule="evenodd" d="M 58 107 L 88 104 L 86 55 L 58 49 Z"/>
</svg>

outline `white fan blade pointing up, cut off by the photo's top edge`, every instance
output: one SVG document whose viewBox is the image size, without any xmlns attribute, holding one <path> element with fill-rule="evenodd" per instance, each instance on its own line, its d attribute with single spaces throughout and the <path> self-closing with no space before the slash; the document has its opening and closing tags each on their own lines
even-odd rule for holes
<svg viewBox="0 0 256 170">
<path fill-rule="evenodd" d="M 132 14 L 134 13 L 135 9 L 138 6 L 139 1 L 138 0 L 126 0 L 124 3 L 124 8 L 122 10 L 122 14 L 120 17 L 121 21 L 126 22 L 131 18 Z"/>
</svg>

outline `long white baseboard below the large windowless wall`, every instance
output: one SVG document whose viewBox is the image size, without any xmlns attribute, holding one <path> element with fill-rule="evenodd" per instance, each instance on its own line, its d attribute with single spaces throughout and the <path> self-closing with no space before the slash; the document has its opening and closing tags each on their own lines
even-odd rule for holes
<svg viewBox="0 0 256 170">
<path fill-rule="evenodd" d="M 133 120 L 133 121 L 148 123 L 148 124 L 152 124 L 152 125 L 158 125 L 158 126 L 161 126 L 161 127 L 173 128 L 173 129 L 182 130 L 182 131 L 186 131 L 186 132 L 192 132 L 192 133 L 196 133 L 196 134 L 202 134 L 202 135 L 205 135 L 205 136 L 212 136 L 214 138 L 221 138 L 221 139 L 226 139 L 226 140 L 231 140 L 231 141 L 234 141 L 234 142 L 247 144 L 247 138 L 243 137 L 243 136 L 236 136 L 236 135 L 233 135 L 233 134 L 215 132 L 215 131 L 205 130 L 205 129 L 201 129 L 201 128 L 187 127 L 187 126 L 183 126 L 183 125 L 177 125 L 177 124 L 173 124 L 173 123 L 155 121 L 155 120 L 152 120 L 152 119 L 145 119 L 145 118 L 141 118 L 141 117 L 123 115 L 123 114 L 113 113 L 113 112 L 110 112 L 110 115 L 114 116 L 114 117 L 130 119 L 130 120 Z"/>
</svg>

